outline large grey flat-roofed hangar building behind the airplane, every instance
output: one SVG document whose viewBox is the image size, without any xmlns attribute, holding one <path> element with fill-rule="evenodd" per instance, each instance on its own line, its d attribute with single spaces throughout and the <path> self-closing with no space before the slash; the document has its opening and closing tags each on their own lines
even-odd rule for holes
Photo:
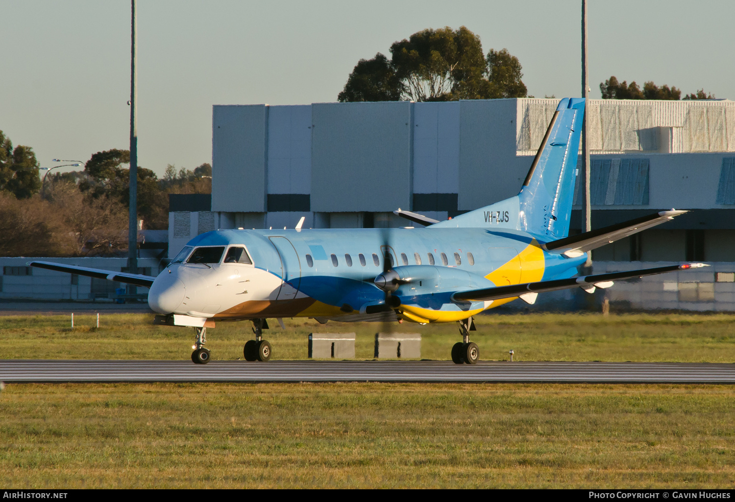
<svg viewBox="0 0 735 502">
<path fill-rule="evenodd" d="M 398 208 L 446 219 L 511 197 L 558 102 L 215 105 L 212 194 L 171 196 L 169 255 L 215 228 L 293 228 L 301 217 L 304 228 L 401 227 L 413 224 Z M 590 100 L 586 112 L 592 228 L 690 210 L 595 250 L 594 272 L 713 265 L 619 283 L 609 300 L 735 311 L 735 102 Z M 570 233 L 581 228 L 580 179 Z"/>
</svg>

